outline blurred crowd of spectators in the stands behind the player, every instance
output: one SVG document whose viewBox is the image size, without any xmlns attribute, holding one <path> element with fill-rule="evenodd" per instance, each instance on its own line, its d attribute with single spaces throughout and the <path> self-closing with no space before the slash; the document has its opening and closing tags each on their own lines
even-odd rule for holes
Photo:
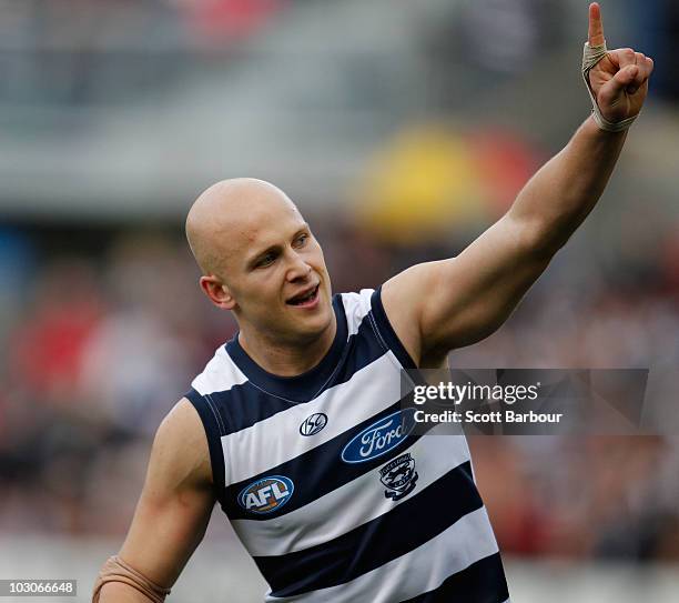
<svg viewBox="0 0 679 603">
<path fill-rule="evenodd" d="M 374 288 L 464 244 L 405 248 L 311 222 L 335 291 Z M 596 285 L 576 284 L 591 265 L 557 260 L 505 326 L 450 364 L 679 366 L 677 265 L 663 250 L 648 257 L 652 270 L 630 280 L 609 267 Z M 202 298 L 171 229 L 4 231 L 0 273 L 0 532 L 123 534 L 155 428 L 235 324 Z M 659 395 L 676 400 L 676 384 Z M 475 436 L 472 446 L 506 551 L 679 560 L 679 439 Z"/>
</svg>

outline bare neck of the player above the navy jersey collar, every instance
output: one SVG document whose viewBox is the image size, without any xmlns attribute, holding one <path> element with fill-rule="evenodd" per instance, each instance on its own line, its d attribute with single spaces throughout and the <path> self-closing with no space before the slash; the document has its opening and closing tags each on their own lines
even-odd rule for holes
<svg viewBox="0 0 679 603">
<path fill-rule="evenodd" d="M 313 369 L 327 353 L 337 332 L 337 319 L 320 335 L 294 342 L 274 341 L 256 332 L 239 333 L 239 343 L 247 355 L 266 372 L 278 376 L 296 376 Z"/>
</svg>

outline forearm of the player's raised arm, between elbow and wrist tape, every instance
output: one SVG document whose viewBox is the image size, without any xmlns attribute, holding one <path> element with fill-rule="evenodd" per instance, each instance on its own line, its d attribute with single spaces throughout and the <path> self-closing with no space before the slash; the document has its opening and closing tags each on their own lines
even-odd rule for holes
<svg viewBox="0 0 679 603">
<path fill-rule="evenodd" d="M 599 130 L 588 118 L 524 187 L 509 214 L 525 227 L 537 252 L 555 253 L 589 214 L 610 179 L 626 137 L 627 132 Z"/>
</svg>

